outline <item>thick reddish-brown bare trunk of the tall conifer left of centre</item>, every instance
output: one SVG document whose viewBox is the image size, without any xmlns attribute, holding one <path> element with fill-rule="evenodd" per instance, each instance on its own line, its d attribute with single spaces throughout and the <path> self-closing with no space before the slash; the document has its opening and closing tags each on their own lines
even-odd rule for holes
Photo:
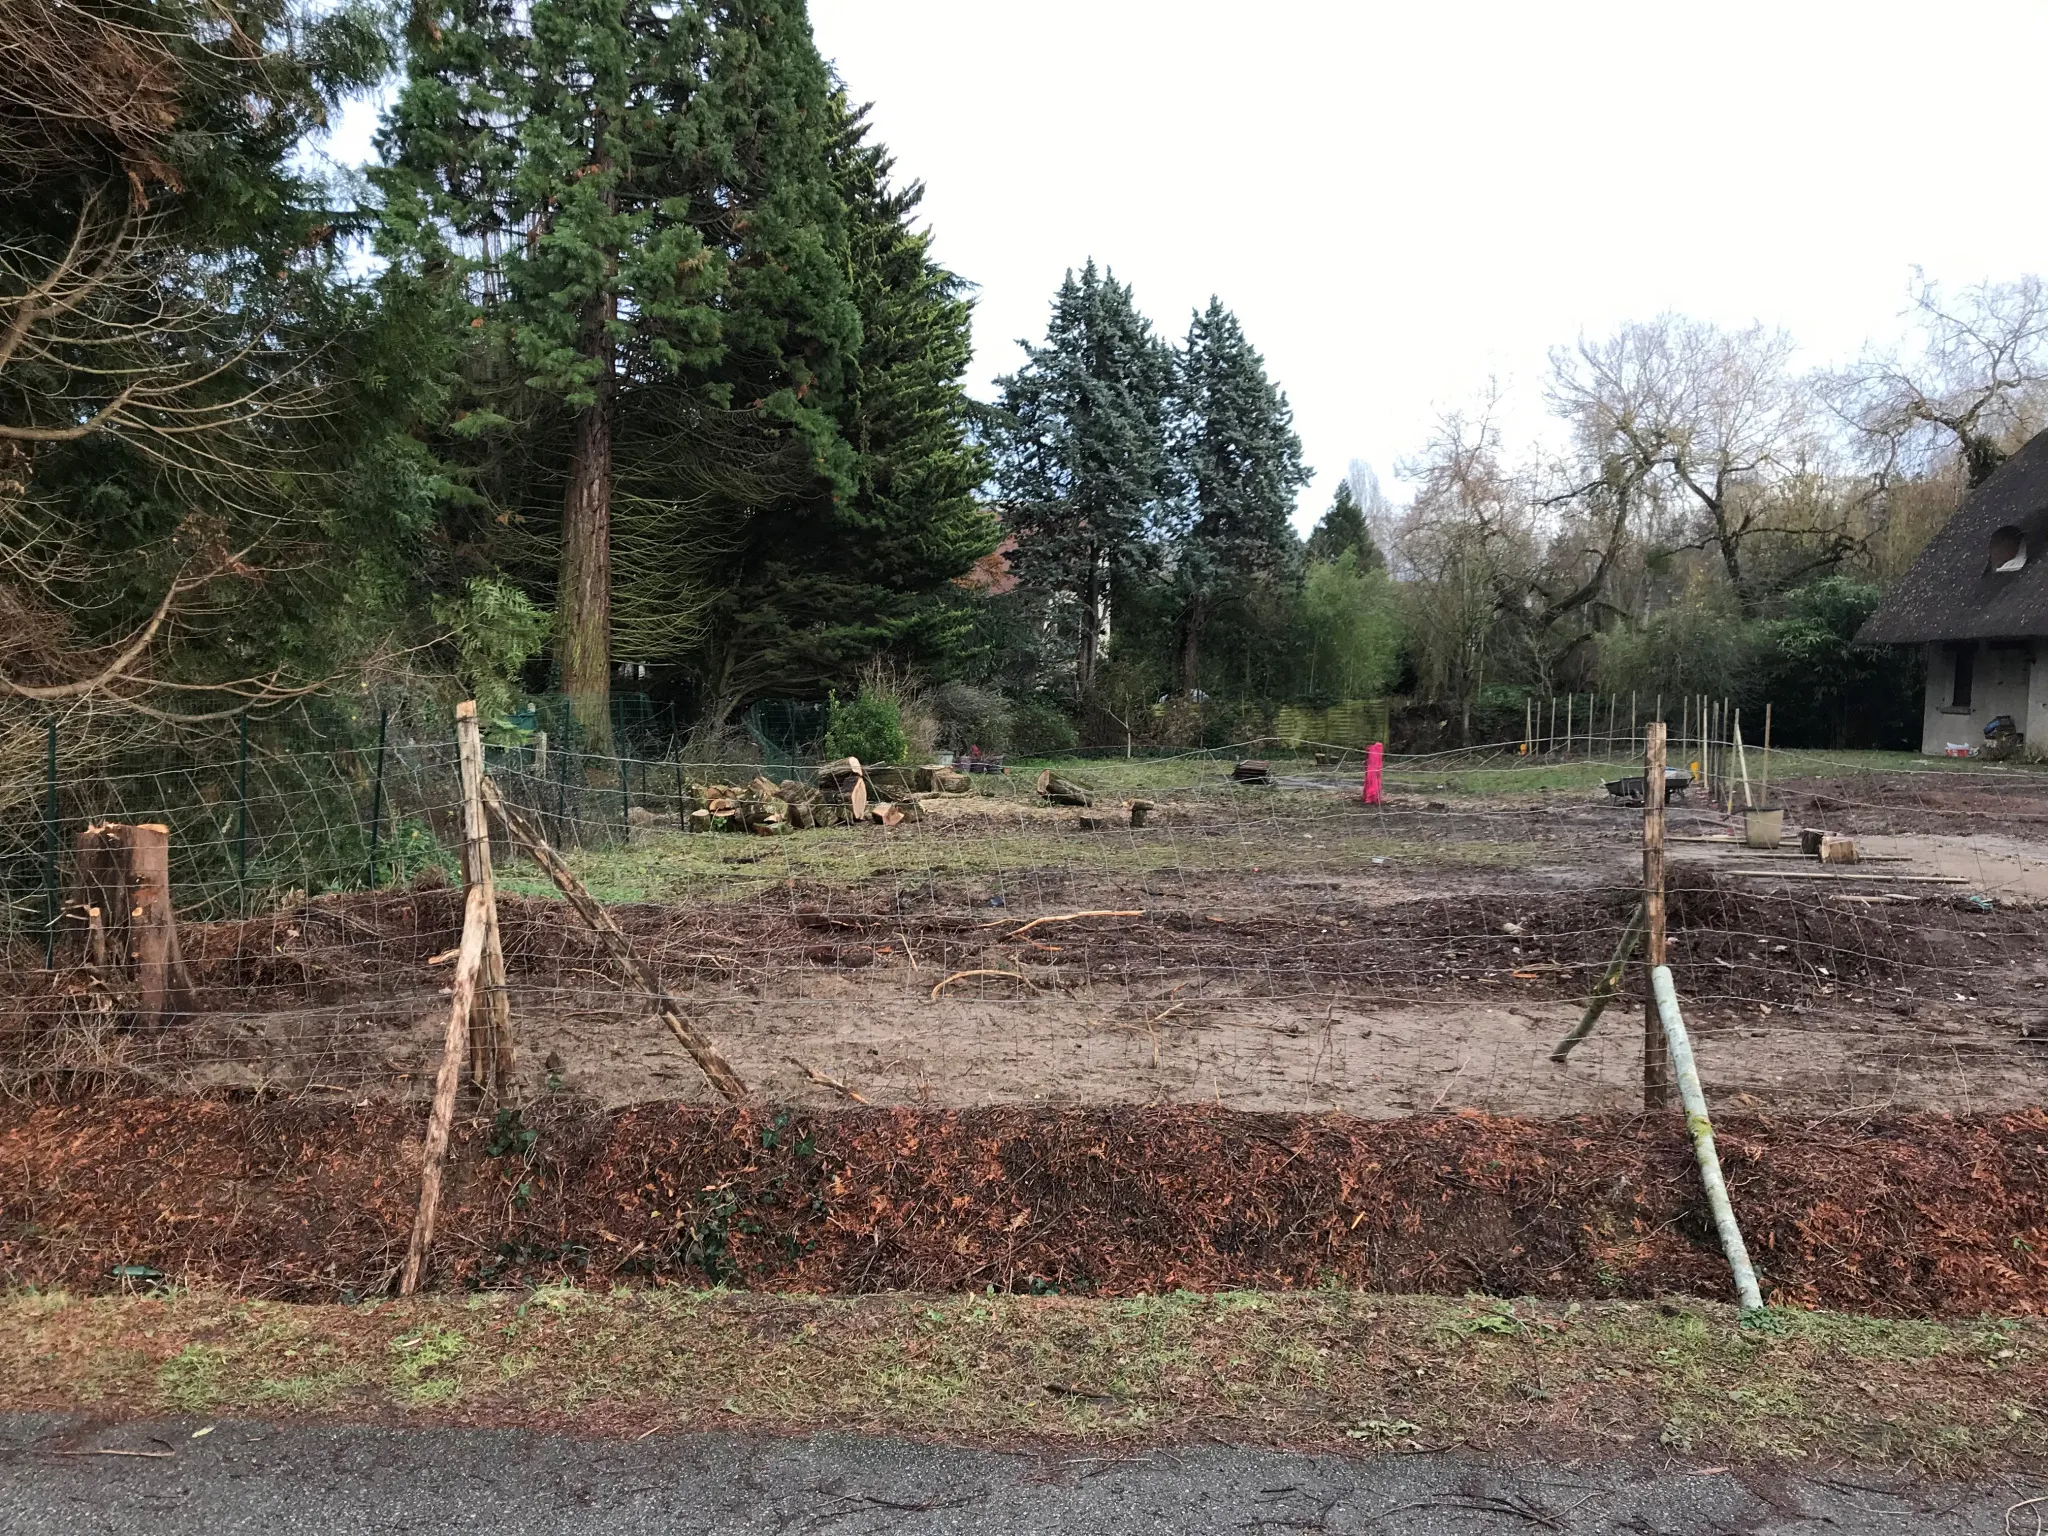
<svg viewBox="0 0 2048 1536">
<path fill-rule="evenodd" d="M 604 303 L 608 311 L 612 301 Z M 555 659 L 561 690 L 584 729 L 584 748 L 612 741 L 612 342 L 594 340 L 604 362 L 598 397 L 575 414 L 569 489 L 561 504 L 561 580 L 555 588 Z"/>
</svg>

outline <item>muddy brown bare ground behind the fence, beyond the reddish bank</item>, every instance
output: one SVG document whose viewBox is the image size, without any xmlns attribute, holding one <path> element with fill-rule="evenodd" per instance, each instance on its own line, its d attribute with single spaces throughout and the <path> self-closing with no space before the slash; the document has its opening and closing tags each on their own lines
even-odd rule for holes
<svg viewBox="0 0 2048 1536">
<path fill-rule="evenodd" d="M 1671 963 L 1710 1092 L 1823 1114 L 2048 1098 L 2048 778 L 1782 791 L 1872 862 L 1806 879 L 1794 852 L 1710 842 L 1739 817 L 1673 807 Z M 649 831 L 592 858 L 610 899 L 674 887 L 614 909 L 778 1102 L 1556 1116 L 1640 1098 L 1634 979 L 1548 1061 L 1636 899 L 1640 819 L 1593 788 L 1186 797 L 1094 834 L 1067 809 L 936 799 L 891 834 Z M 195 926 L 199 1012 L 160 1036 L 82 1028 L 63 973 L 23 969 L 16 1081 L 420 1096 L 457 922 L 453 891 L 418 889 Z M 559 901 L 506 895 L 504 934 L 524 1094 L 705 1096 Z"/>
</svg>

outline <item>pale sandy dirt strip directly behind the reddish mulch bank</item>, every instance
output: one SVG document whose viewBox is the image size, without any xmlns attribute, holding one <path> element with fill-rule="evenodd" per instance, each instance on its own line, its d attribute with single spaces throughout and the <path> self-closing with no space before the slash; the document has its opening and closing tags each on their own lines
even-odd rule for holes
<svg viewBox="0 0 2048 1536">
<path fill-rule="evenodd" d="M 698 997 L 692 1014 L 758 1094 L 805 1106 L 846 1102 L 813 1073 L 883 1106 L 1217 1104 L 1356 1116 L 1462 1108 L 1550 1116 L 1630 1110 L 1642 1098 L 1642 1010 L 1628 997 L 1559 1065 L 1548 1053 L 1579 1018 L 1575 1004 L 1186 995 L 1165 1004 L 995 995 L 934 1004 L 887 977 L 813 981 L 807 993 Z M 657 1024 L 614 1004 L 590 993 L 522 993 L 516 1016 L 528 1094 L 553 1077 L 604 1106 L 711 1098 Z M 215 1036 L 219 1055 L 174 1067 L 172 1079 L 184 1092 L 424 1094 L 444 1022 L 442 1010 L 422 999 L 418 1012 L 379 1032 L 381 1049 L 367 1061 L 346 1049 L 307 1051 L 303 1028 L 276 1036 L 270 1022 L 244 1020 L 238 1036 Z M 1733 1106 L 1974 1112 L 2048 1100 L 2048 1053 L 2011 1028 L 1972 1020 L 1962 1006 L 1929 1004 L 1917 1018 L 1696 1010 L 1690 1022 L 1708 1092 Z"/>
</svg>

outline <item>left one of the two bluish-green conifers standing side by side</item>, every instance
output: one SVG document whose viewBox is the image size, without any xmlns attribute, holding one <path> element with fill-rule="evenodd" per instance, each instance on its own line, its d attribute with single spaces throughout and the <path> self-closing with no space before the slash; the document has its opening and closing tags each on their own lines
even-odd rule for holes
<svg viewBox="0 0 2048 1536">
<path fill-rule="evenodd" d="M 1059 285 L 1044 344 L 1022 346 L 1024 367 L 999 381 L 995 483 L 1012 565 L 1053 604 L 1085 694 L 1112 596 L 1153 569 L 1174 354 L 1094 260 Z"/>
</svg>

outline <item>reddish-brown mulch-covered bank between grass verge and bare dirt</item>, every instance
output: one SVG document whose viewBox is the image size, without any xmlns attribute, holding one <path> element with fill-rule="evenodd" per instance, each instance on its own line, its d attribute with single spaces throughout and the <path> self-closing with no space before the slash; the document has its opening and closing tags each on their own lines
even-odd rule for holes
<svg viewBox="0 0 2048 1536">
<path fill-rule="evenodd" d="M 0 1282 L 383 1288 L 420 1112 L 100 1100 L 0 1110 Z M 2048 1311 L 2048 1114 L 1731 1118 L 1767 1292 L 1886 1315 Z M 457 1128 L 440 1286 L 780 1290 L 1343 1284 L 1726 1296 L 1669 1120 L 1194 1108 L 707 1110 L 551 1102 Z"/>
</svg>

